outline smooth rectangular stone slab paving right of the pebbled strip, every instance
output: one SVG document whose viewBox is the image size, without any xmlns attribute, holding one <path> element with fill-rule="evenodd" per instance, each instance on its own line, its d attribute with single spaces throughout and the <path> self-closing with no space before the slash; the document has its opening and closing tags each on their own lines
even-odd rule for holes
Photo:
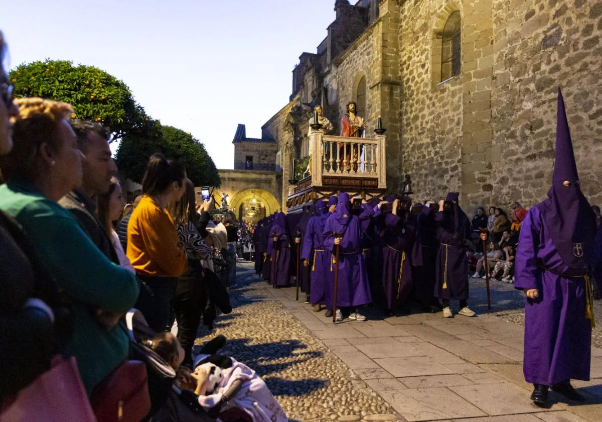
<svg viewBox="0 0 602 422">
<path fill-rule="evenodd" d="M 576 406 L 550 393 L 541 409 L 529 400 L 523 376 L 524 328 L 497 316 L 444 319 L 441 313 L 333 324 L 323 312 L 303 312 L 281 289 L 281 302 L 314 336 L 408 421 L 602 421 L 602 350 L 592 349 L 591 382 L 574 382 L 588 403 Z M 288 297 L 288 298 L 287 298 Z"/>
</svg>

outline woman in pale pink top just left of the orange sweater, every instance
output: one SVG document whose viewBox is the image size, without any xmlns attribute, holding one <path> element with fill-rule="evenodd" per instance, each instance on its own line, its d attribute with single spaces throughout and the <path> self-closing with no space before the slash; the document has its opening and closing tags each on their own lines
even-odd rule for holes
<svg viewBox="0 0 602 422">
<path fill-rule="evenodd" d="M 125 251 L 123 251 L 123 247 L 119 241 L 119 236 L 117 236 L 117 233 L 113 228 L 113 221 L 117 221 L 121 217 L 124 205 L 125 200 L 123 199 L 121 185 L 119 184 L 119 181 L 113 177 L 111 178 L 108 192 L 103 195 L 96 195 L 98 219 L 101 222 L 105 233 L 107 233 L 107 236 L 111 239 L 111 244 L 113 244 L 117 259 L 119 260 L 119 265 L 129 269 L 129 271 L 135 274 L 136 271 L 134 266 L 129 262 L 129 258 L 126 256 Z"/>
</svg>

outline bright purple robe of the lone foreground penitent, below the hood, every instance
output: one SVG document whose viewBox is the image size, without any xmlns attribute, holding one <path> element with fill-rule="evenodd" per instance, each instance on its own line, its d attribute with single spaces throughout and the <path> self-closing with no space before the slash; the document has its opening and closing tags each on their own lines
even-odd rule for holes
<svg viewBox="0 0 602 422">
<path fill-rule="evenodd" d="M 539 290 L 538 298 L 525 301 L 524 376 L 544 385 L 587 381 L 592 330 L 585 313 L 585 279 L 579 277 L 585 274 L 563 263 L 540 206 L 524 219 L 515 264 L 515 288 Z"/>
</svg>

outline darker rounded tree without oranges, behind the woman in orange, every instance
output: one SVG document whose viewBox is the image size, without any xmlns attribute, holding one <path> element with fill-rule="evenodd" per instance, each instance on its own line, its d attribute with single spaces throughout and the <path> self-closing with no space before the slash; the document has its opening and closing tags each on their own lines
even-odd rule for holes
<svg viewBox="0 0 602 422">
<path fill-rule="evenodd" d="M 171 126 L 160 126 L 155 136 L 124 136 L 117 150 L 116 163 L 125 177 L 138 183 L 144 176 L 146 163 L 154 153 L 163 153 L 184 164 L 188 178 L 194 186 L 216 186 L 221 184 L 219 172 L 205 146 L 183 130 Z"/>
</svg>

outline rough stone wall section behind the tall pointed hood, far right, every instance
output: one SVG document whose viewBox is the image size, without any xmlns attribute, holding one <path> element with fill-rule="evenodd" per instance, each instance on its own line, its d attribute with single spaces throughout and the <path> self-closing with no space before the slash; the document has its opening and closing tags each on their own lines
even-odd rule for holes
<svg viewBox="0 0 602 422">
<path fill-rule="evenodd" d="M 536 203 L 554 165 L 562 87 L 582 190 L 602 201 L 602 1 L 496 0 L 491 200 Z"/>
</svg>

